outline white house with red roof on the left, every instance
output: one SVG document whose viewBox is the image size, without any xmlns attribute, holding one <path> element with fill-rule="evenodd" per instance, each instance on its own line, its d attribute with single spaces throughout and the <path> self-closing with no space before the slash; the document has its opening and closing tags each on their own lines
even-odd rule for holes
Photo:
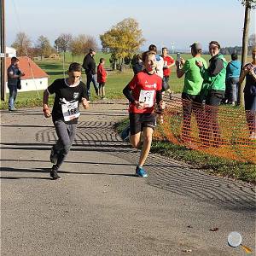
<svg viewBox="0 0 256 256">
<path fill-rule="evenodd" d="M 19 91 L 45 90 L 48 87 L 48 74 L 32 61 L 29 57 L 18 57 L 19 67 L 25 76 L 21 77 L 21 89 Z M 6 58 L 6 66 L 9 67 L 11 58 Z M 6 91 L 9 91 L 8 88 Z"/>
</svg>

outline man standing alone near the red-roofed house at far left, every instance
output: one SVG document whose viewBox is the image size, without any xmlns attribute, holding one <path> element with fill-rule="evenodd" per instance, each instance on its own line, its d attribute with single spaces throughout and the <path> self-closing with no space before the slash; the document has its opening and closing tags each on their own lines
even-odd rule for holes
<svg viewBox="0 0 256 256">
<path fill-rule="evenodd" d="M 8 108 L 9 111 L 15 111 L 15 101 L 18 93 L 17 85 L 21 77 L 25 76 L 25 73 L 22 73 L 19 68 L 19 59 L 16 57 L 11 58 L 11 64 L 7 69 L 8 76 L 8 88 L 9 88 L 9 102 Z"/>
</svg>

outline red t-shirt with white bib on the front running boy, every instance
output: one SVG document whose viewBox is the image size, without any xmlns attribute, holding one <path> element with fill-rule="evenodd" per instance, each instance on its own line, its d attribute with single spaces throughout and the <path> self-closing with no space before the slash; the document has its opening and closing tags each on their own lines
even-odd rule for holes
<svg viewBox="0 0 256 256">
<path fill-rule="evenodd" d="M 137 109 L 135 103 L 130 104 L 130 113 L 153 113 L 156 90 L 162 90 L 162 79 L 157 74 L 146 71 L 137 73 L 128 84 L 131 95 L 137 102 L 145 102 L 148 107 Z"/>
</svg>

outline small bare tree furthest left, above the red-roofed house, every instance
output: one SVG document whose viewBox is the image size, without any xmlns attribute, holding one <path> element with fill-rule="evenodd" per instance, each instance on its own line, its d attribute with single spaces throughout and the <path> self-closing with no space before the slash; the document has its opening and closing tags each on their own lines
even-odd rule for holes
<svg viewBox="0 0 256 256">
<path fill-rule="evenodd" d="M 26 56 L 28 55 L 29 49 L 32 47 L 32 42 L 25 32 L 19 32 L 11 47 L 16 49 L 18 56 Z"/>
</svg>

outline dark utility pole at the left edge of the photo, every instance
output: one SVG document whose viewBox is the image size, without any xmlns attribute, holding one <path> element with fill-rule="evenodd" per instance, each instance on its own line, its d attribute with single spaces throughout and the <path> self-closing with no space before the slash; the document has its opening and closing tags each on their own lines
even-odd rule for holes
<svg viewBox="0 0 256 256">
<path fill-rule="evenodd" d="M 5 47 L 5 18 L 4 18 L 4 0 L 1 0 L 0 17 L 1 17 L 1 45 L 0 45 L 0 83 L 1 83 L 1 101 L 6 98 L 6 47 Z"/>
</svg>

